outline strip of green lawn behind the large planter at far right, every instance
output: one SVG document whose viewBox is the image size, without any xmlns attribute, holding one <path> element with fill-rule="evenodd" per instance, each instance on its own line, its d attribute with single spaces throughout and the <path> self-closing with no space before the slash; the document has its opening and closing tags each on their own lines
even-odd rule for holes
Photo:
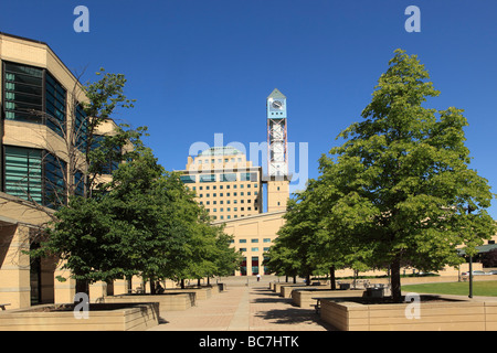
<svg viewBox="0 0 497 353">
<path fill-rule="evenodd" d="M 468 296 L 469 282 L 405 285 L 402 286 L 402 291 L 433 295 Z M 497 297 L 497 280 L 473 281 L 473 296 Z"/>
</svg>

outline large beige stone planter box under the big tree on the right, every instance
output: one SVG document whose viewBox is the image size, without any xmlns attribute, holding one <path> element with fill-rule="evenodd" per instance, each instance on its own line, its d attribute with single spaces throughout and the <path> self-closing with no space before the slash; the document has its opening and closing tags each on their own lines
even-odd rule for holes
<svg viewBox="0 0 497 353">
<path fill-rule="evenodd" d="M 361 300 L 321 300 L 321 319 L 342 331 L 495 331 L 497 301 L 454 300 L 443 296 L 420 303 L 419 319 L 408 318 L 410 303 L 364 304 Z"/>
</svg>

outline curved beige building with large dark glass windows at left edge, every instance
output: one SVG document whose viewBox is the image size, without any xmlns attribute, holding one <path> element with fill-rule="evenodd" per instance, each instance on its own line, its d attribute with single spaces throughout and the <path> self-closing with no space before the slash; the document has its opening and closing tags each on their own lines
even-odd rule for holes
<svg viewBox="0 0 497 353">
<path fill-rule="evenodd" d="M 70 188 L 84 192 L 86 165 L 78 148 L 86 97 L 45 43 L 0 33 L 0 303 L 14 309 L 72 302 L 76 282 L 54 279 L 68 277 L 57 260 L 33 259 L 24 250 L 36 246 L 33 236 L 66 202 Z M 97 135 L 112 133 L 115 126 L 107 120 Z M 92 286 L 91 292 L 105 288 Z"/>
</svg>

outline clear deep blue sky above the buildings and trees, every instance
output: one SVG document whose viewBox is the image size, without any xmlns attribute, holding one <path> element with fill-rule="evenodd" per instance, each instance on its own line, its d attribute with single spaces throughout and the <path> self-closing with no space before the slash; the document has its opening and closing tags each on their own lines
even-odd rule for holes
<svg viewBox="0 0 497 353">
<path fill-rule="evenodd" d="M 80 4 L 88 33 L 73 30 Z M 411 4 L 419 33 L 404 30 Z M 309 178 L 361 119 L 401 47 L 442 93 L 430 107 L 465 109 L 470 165 L 497 192 L 496 13 L 484 0 L 4 0 L 0 31 L 46 42 L 85 82 L 99 67 L 125 74 L 137 103 L 115 118 L 148 126 L 146 143 L 168 170 L 184 168 L 192 143 L 213 146 L 214 133 L 247 150 L 264 142 L 265 99 L 277 87 L 288 98 L 289 142 L 308 143 Z M 299 172 L 299 156 L 296 164 Z"/>
</svg>

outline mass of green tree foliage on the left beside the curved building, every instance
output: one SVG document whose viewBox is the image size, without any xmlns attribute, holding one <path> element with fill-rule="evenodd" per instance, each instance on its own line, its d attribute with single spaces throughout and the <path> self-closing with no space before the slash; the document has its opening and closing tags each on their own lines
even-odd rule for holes
<svg viewBox="0 0 497 353">
<path fill-rule="evenodd" d="M 103 74 L 104 71 L 102 69 Z M 117 107 L 131 107 L 123 75 L 105 74 L 88 85 L 87 190 L 55 213 L 46 240 L 33 256 L 55 256 L 72 277 L 94 282 L 139 275 L 144 279 L 225 275 L 240 255 L 230 237 L 210 224 L 207 211 L 178 173 L 166 171 L 145 147 L 147 128 L 120 125 L 93 145 L 99 124 Z M 112 181 L 98 176 L 118 162 Z M 62 278 L 61 278 L 62 279 Z"/>
</svg>

